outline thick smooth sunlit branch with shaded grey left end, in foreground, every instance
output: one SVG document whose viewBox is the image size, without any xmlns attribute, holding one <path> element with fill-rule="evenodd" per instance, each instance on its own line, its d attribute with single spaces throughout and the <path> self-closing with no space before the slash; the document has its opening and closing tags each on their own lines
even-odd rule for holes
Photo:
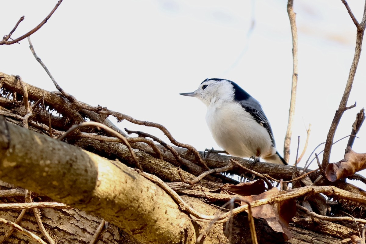
<svg viewBox="0 0 366 244">
<path fill-rule="evenodd" d="M 190 218 L 133 169 L 16 125 L 1 125 L 0 134 L 9 138 L 0 142 L 1 179 L 94 213 L 143 243 L 194 243 Z"/>
</svg>

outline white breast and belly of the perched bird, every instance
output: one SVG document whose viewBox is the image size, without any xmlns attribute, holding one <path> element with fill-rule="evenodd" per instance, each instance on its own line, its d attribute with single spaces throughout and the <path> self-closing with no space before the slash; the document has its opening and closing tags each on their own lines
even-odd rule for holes
<svg viewBox="0 0 366 244">
<path fill-rule="evenodd" d="M 273 154 L 268 131 L 236 102 L 209 104 L 206 122 L 216 143 L 233 156 Z"/>
</svg>

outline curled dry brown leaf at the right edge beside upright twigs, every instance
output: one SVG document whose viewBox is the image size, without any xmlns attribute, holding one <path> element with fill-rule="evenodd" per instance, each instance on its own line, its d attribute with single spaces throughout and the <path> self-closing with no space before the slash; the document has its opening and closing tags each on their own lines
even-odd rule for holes
<svg viewBox="0 0 366 244">
<path fill-rule="evenodd" d="M 356 153 L 348 147 L 348 153 L 339 162 L 326 166 L 325 175 L 329 181 L 336 181 L 366 169 L 366 153 Z"/>
</svg>

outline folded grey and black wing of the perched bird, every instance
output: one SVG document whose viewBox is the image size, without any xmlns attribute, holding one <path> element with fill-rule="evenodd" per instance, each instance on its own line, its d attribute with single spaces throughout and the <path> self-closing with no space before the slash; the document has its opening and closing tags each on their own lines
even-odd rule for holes
<svg viewBox="0 0 366 244">
<path fill-rule="evenodd" d="M 253 100 L 254 100 L 254 98 L 253 98 Z M 267 119 L 266 115 L 264 114 L 259 102 L 257 102 L 257 100 L 255 100 L 254 102 L 240 101 L 240 105 L 242 105 L 242 108 L 245 111 L 247 111 L 248 113 L 250 113 L 251 116 L 253 116 L 253 118 L 255 119 L 255 121 L 258 122 L 258 124 L 262 125 L 268 131 L 269 137 L 272 141 L 272 146 L 276 147 L 272 128 L 271 128 L 271 126 L 268 122 L 268 119 Z"/>
</svg>

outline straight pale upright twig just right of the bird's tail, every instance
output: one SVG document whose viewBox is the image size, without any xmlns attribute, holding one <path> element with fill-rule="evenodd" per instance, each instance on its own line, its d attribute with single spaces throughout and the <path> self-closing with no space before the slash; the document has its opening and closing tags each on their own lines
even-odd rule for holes
<svg viewBox="0 0 366 244">
<path fill-rule="evenodd" d="M 294 12 L 294 0 L 287 1 L 287 13 L 290 19 L 291 35 L 292 35 L 292 82 L 291 82 L 291 98 L 290 109 L 288 110 L 288 124 L 284 142 L 283 155 L 286 162 L 290 160 L 290 144 L 292 136 L 292 124 L 294 123 L 295 105 L 296 105 L 296 87 L 298 80 L 298 37 L 296 27 L 296 14 Z"/>
</svg>

